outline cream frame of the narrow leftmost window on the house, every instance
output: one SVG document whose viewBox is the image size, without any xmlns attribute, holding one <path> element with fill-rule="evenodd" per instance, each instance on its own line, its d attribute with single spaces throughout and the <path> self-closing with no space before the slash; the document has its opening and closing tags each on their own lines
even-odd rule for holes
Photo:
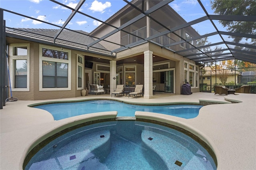
<svg viewBox="0 0 256 170">
<path fill-rule="evenodd" d="M 27 55 L 14 55 L 14 47 L 27 47 Z M 27 60 L 27 88 L 14 88 L 15 82 L 15 60 Z M 30 91 L 30 44 L 29 43 L 12 43 L 10 44 L 10 83 L 12 91 Z"/>
</svg>

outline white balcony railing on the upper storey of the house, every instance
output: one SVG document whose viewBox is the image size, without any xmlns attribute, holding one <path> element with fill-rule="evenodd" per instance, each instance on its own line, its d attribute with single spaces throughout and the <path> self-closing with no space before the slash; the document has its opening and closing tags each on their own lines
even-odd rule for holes
<svg viewBox="0 0 256 170">
<path fill-rule="evenodd" d="M 150 35 L 154 36 L 156 34 L 160 33 L 159 31 L 155 30 L 154 28 L 150 28 Z M 147 27 L 143 27 L 140 28 L 134 32 L 132 32 L 133 35 L 131 34 L 127 34 L 126 36 L 123 36 L 121 38 L 121 44 L 122 45 L 128 45 L 130 43 L 134 43 L 134 42 L 138 42 L 139 40 L 141 40 L 141 38 L 146 38 L 147 37 Z M 138 38 L 136 36 L 139 36 L 141 38 Z M 168 37 L 168 36 L 160 36 L 157 38 L 152 39 L 151 41 L 159 43 L 161 45 L 168 45 L 170 43 L 175 42 L 172 38 Z"/>
</svg>

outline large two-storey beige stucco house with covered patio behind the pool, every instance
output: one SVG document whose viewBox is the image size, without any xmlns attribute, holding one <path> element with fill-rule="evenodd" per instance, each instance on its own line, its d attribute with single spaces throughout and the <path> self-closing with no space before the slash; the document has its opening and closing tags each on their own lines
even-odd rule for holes
<svg viewBox="0 0 256 170">
<path fill-rule="evenodd" d="M 145 8 L 158 3 L 146 2 Z M 131 3 L 142 4 L 138 0 Z M 137 13 L 136 9 L 126 5 L 106 22 L 119 27 Z M 168 5 L 151 16 L 161 20 L 166 28 L 186 23 Z M 148 17 L 126 27 L 127 32 L 142 38 L 164 29 Z M 88 84 L 103 85 L 110 89 L 110 93 L 116 89 L 116 84 L 124 84 L 131 89 L 136 84 L 144 84 L 144 98 L 148 99 L 153 97 L 153 85 L 157 85 L 156 91 L 180 94 L 182 84 L 189 82 L 192 92 L 199 91 L 199 66 L 172 51 L 189 49 L 191 45 L 178 43 L 172 49 L 160 47 L 158 44 L 181 41 L 172 33 L 126 49 L 117 44 L 127 45 L 140 40 L 120 31 L 106 39 L 114 42 L 111 45 L 106 40 L 93 43 L 96 40 L 94 37 L 105 36 L 113 30 L 104 24 L 90 34 L 80 30 L 63 30 L 52 43 L 59 30 L 6 28 L 13 95 L 20 100 L 78 97 Z M 199 36 L 190 26 L 175 33 L 184 39 Z M 19 70 L 22 70 L 23 77 L 18 74 Z"/>
</svg>

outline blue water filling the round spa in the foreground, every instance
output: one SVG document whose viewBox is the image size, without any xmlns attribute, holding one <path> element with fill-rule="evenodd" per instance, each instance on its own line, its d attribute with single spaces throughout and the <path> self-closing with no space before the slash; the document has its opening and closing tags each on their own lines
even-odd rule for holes
<svg viewBox="0 0 256 170">
<path fill-rule="evenodd" d="M 177 130 L 139 121 L 109 121 L 52 140 L 25 168 L 46 169 L 216 170 L 216 165 L 198 142 Z"/>
</svg>

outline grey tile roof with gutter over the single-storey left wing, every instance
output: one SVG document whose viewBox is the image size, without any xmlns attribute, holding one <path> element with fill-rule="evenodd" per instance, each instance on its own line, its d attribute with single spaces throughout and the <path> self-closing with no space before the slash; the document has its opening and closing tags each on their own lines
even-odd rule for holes
<svg viewBox="0 0 256 170">
<path fill-rule="evenodd" d="M 71 49 L 100 53 L 108 56 L 111 55 L 111 52 L 100 43 L 96 43 L 87 49 L 87 45 L 95 40 L 87 36 L 88 32 L 82 30 L 62 30 L 54 42 L 54 37 L 58 31 L 58 29 L 6 28 L 6 35 L 8 37 L 15 35 L 15 38 L 26 38 L 34 42 L 48 42 L 48 44 L 64 45 Z"/>
</svg>

